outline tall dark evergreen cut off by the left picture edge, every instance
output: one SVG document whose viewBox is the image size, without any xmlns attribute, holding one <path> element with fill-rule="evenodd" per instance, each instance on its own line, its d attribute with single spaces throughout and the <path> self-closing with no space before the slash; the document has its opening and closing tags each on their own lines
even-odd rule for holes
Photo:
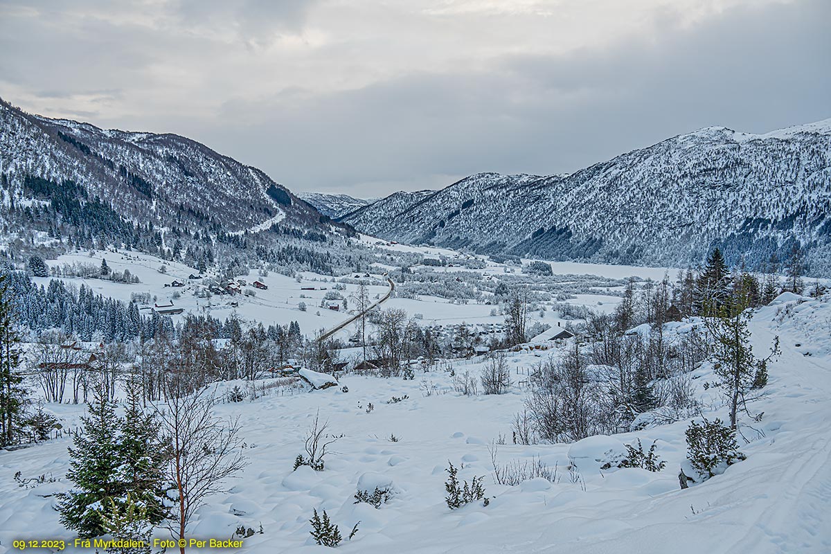
<svg viewBox="0 0 831 554">
<path fill-rule="evenodd" d="M 7 275 L 0 275 L 0 445 L 12 444 L 20 427 L 26 390 L 17 372 L 22 349 L 14 320 Z"/>
</svg>

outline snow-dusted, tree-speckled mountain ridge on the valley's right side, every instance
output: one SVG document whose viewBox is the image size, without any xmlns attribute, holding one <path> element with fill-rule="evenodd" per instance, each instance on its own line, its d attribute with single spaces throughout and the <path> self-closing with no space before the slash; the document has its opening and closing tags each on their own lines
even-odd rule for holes
<svg viewBox="0 0 831 554">
<path fill-rule="evenodd" d="M 342 221 L 403 243 L 552 260 L 686 266 L 715 246 L 759 266 L 794 241 L 831 274 L 831 120 L 765 135 L 710 127 L 569 175 L 475 174 Z"/>
</svg>

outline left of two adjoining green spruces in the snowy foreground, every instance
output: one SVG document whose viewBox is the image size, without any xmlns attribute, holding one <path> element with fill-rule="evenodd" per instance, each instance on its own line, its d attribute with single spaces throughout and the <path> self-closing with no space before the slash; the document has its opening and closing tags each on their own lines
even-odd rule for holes
<svg viewBox="0 0 831 554">
<path fill-rule="evenodd" d="M 64 527 L 78 532 L 79 537 L 99 537 L 106 533 L 106 506 L 125 492 L 120 480 L 121 419 L 116 417 L 116 405 L 105 385 L 96 384 L 89 414 L 81 420 L 84 432 L 73 439 L 66 472 L 75 487 L 61 494 L 57 509 Z"/>
</svg>

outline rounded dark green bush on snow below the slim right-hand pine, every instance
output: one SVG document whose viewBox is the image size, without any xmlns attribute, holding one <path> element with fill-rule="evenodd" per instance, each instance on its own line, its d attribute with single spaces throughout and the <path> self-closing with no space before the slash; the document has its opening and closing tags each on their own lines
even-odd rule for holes
<svg viewBox="0 0 831 554">
<path fill-rule="evenodd" d="M 686 458 L 704 479 L 722 473 L 727 466 L 747 458 L 738 450 L 735 431 L 722 424 L 720 419 L 705 419 L 701 424 L 691 422 L 686 429 L 686 446 Z"/>
</svg>

